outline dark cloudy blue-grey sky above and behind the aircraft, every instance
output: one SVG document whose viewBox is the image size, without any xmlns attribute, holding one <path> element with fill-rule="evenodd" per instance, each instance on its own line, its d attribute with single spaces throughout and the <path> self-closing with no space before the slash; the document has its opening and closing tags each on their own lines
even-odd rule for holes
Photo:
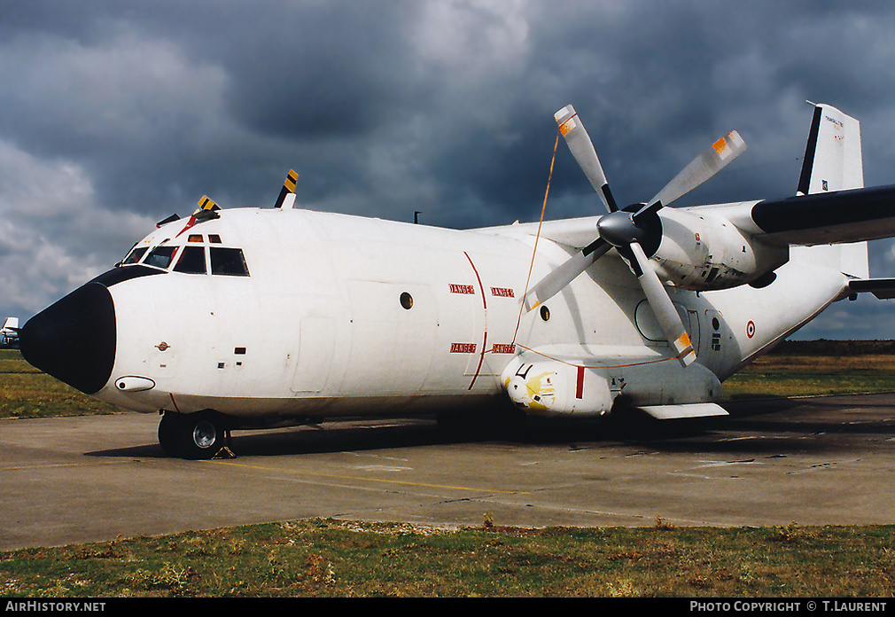
<svg viewBox="0 0 895 617">
<path fill-rule="evenodd" d="M 749 150 L 676 205 L 795 192 L 811 107 L 895 183 L 895 4 L 673 0 L 0 0 L 0 317 L 22 320 L 208 194 L 478 227 L 537 219 L 553 113 L 619 201 L 720 135 Z M 600 213 L 560 144 L 547 216 Z M 872 274 L 895 276 L 895 244 Z M 801 338 L 895 338 L 895 302 Z"/>
</svg>

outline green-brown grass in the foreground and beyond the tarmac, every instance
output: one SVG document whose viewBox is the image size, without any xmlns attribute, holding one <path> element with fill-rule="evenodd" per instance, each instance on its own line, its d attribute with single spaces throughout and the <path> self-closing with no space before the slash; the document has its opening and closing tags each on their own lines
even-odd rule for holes
<svg viewBox="0 0 895 617">
<path fill-rule="evenodd" d="M 895 390 L 885 353 L 763 356 L 727 398 Z M 0 351 L 0 417 L 106 414 Z M 0 553 L 0 597 L 891 597 L 895 526 L 433 529 L 332 519 Z"/>
</svg>

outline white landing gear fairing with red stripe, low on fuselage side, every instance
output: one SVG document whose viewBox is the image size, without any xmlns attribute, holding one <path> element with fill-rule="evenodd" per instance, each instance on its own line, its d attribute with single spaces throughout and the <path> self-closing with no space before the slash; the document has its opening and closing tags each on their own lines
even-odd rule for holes
<svg viewBox="0 0 895 617">
<path fill-rule="evenodd" d="M 633 407 L 720 398 L 718 377 L 702 364 L 685 368 L 667 356 L 626 356 L 612 349 L 595 362 L 593 356 L 575 358 L 562 351 L 525 351 L 507 365 L 502 382 L 516 406 L 534 415 L 601 416 L 618 397 Z"/>
</svg>

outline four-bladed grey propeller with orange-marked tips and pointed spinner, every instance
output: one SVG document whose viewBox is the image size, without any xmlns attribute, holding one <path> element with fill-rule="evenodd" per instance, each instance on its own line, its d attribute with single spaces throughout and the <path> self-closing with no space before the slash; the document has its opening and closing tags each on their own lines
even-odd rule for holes
<svg viewBox="0 0 895 617">
<path fill-rule="evenodd" d="M 726 167 L 746 150 L 746 142 L 736 131 L 728 133 L 684 167 L 652 200 L 619 210 L 591 138 L 575 113 L 575 108 L 571 105 L 563 107 L 554 117 L 569 150 L 609 213 L 597 221 L 598 236 L 591 244 L 551 271 L 525 295 L 525 310 L 531 311 L 558 294 L 602 255 L 608 253 L 609 249 L 616 248 L 634 271 L 678 360 L 685 366 L 692 364 L 696 358 L 693 345 L 646 250 L 651 254 L 655 253 L 661 243 L 661 220 L 657 214 L 659 210 Z"/>
</svg>

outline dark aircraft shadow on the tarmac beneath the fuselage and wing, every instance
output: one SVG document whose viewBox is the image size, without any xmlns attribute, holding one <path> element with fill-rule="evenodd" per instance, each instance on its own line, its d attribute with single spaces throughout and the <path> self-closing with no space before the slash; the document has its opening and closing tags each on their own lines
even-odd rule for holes
<svg viewBox="0 0 895 617">
<path fill-rule="evenodd" d="M 229 444 L 237 457 L 275 457 L 341 451 L 389 450 L 464 443 L 502 442 L 526 446 L 566 445 L 579 450 L 627 444 L 668 452 L 742 452 L 785 454 L 788 451 L 837 450 L 841 437 L 895 436 L 895 422 L 874 416 L 860 421 L 823 413 L 799 413 L 802 407 L 841 407 L 840 401 L 769 399 L 725 404 L 730 416 L 658 421 L 627 413 L 609 421 L 534 420 L 511 431 L 445 431 L 433 418 L 389 422 L 333 422 L 320 427 L 234 431 Z M 861 403 L 865 407 L 864 401 Z M 889 406 L 885 406 L 889 407 Z M 773 436 L 771 439 L 769 436 Z M 96 457 L 170 458 L 158 443 L 88 452 Z"/>
</svg>

